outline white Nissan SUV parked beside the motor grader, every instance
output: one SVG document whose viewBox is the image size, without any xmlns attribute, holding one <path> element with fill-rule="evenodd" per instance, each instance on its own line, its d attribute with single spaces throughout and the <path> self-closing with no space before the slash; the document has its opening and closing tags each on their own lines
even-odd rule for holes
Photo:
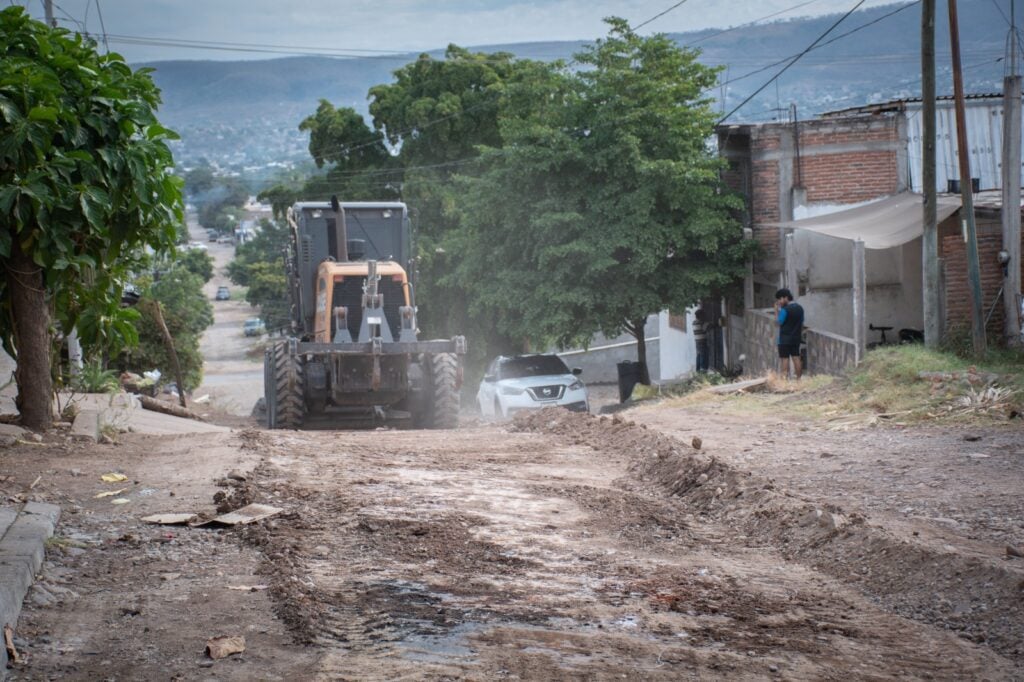
<svg viewBox="0 0 1024 682">
<path fill-rule="evenodd" d="M 476 392 L 480 414 L 507 418 L 522 410 L 558 406 L 589 412 L 582 370 L 569 370 L 558 355 L 500 356 L 487 368 Z"/>
</svg>

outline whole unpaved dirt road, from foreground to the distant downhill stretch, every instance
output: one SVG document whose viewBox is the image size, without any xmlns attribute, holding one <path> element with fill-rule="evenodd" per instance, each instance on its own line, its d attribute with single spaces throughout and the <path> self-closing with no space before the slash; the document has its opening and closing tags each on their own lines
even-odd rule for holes
<svg viewBox="0 0 1024 682">
<path fill-rule="evenodd" d="M 252 313 L 215 314 L 197 394 L 236 431 L 3 451 L 0 493 L 65 510 L 12 679 L 1024 679 L 1019 429 L 709 398 L 270 432 Z M 141 521 L 250 502 L 282 512 Z M 246 650 L 210 659 L 219 635 Z"/>
</svg>

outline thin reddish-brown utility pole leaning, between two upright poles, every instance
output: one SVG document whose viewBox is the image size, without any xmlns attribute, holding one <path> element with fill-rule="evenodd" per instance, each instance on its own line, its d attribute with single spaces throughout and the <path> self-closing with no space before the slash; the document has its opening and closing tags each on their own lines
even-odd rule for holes
<svg viewBox="0 0 1024 682">
<path fill-rule="evenodd" d="M 981 266 L 978 264 L 978 233 L 974 224 L 974 187 L 971 182 L 971 147 L 967 143 L 967 112 L 964 105 L 964 74 L 961 72 L 959 25 L 956 0 L 949 0 L 949 50 L 953 61 L 953 99 L 956 106 L 956 151 L 959 155 L 961 213 L 967 241 L 967 276 L 971 289 L 971 338 L 974 354 L 986 349 L 985 310 L 981 300 Z"/>
</svg>

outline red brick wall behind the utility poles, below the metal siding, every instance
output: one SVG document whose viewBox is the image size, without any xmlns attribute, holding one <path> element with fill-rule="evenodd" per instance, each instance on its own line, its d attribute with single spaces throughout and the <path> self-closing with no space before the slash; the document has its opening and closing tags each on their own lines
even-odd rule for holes
<svg viewBox="0 0 1024 682">
<path fill-rule="evenodd" d="M 980 226 L 979 226 L 980 227 Z M 1022 240 L 1024 242 L 1024 240 Z M 981 269 L 981 300 L 985 314 L 995 305 L 1002 286 L 1002 267 L 997 255 L 1002 250 L 1002 236 L 995 230 L 978 233 L 978 262 Z M 946 330 L 971 329 L 971 288 L 967 279 L 967 245 L 962 235 L 942 238 L 942 258 L 946 272 Z M 1021 264 L 1024 273 L 1024 263 Z M 1002 338 L 1002 299 L 985 327 L 989 340 Z"/>
</svg>

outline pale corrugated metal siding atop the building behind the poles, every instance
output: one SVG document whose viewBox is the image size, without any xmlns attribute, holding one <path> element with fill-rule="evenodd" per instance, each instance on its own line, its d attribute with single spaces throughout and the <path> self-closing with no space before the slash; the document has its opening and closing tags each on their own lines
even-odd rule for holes
<svg viewBox="0 0 1024 682">
<path fill-rule="evenodd" d="M 1002 100 L 967 100 L 967 135 L 971 147 L 971 174 L 981 178 L 982 189 L 998 189 L 1000 180 L 1000 159 L 1002 150 Z M 923 190 L 922 124 L 921 103 L 907 104 L 907 165 L 910 169 L 913 191 Z M 959 177 L 959 161 L 956 154 L 956 114 L 951 100 L 937 103 L 935 113 L 938 139 L 936 140 L 935 183 L 936 190 L 946 191 L 949 179 Z M 1022 125 L 1024 129 L 1024 125 Z"/>
</svg>

